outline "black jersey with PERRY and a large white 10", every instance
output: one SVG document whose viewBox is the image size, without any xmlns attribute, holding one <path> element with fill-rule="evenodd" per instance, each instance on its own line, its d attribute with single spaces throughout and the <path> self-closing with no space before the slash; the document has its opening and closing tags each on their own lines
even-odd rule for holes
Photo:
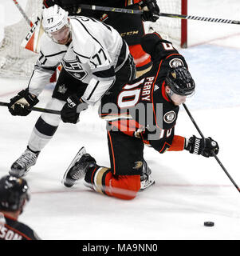
<svg viewBox="0 0 240 256">
<path fill-rule="evenodd" d="M 171 147 L 179 112 L 179 106 L 165 93 L 165 78 L 171 67 L 187 67 L 187 62 L 159 34 L 145 35 L 141 44 L 151 54 L 151 70 L 119 90 L 110 90 L 102 99 L 100 117 L 109 121 L 111 129 L 113 126 L 125 134 L 140 136 L 163 153 Z"/>
</svg>

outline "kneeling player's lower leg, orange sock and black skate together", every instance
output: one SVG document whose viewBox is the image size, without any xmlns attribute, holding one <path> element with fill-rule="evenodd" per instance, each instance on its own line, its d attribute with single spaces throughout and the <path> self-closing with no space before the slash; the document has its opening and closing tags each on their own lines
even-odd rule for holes
<svg viewBox="0 0 240 256">
<path fill-rule="evenodd" d="M 132 199 L 140 190 L 140 175 L 113 175 L 109 168 L 97 166 L 96 160 L 82 147 L 66 170 L 62 183 L 71 187 L 84 177 L 85 186 L 116 198 Z"/>
</svg>

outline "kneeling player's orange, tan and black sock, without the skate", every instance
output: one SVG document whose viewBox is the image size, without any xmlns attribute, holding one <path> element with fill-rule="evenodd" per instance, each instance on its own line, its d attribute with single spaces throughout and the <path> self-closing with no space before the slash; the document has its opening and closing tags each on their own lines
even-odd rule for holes
<svg viewBox="0 0 240 256">
<path fill-rule="evenodd" d="M 140 175 L 114 175 L 111 169 L 96 166 L 87 170 L 85 186 L 100 194 L 130 200 L 140 190 Z"/>
</svg>

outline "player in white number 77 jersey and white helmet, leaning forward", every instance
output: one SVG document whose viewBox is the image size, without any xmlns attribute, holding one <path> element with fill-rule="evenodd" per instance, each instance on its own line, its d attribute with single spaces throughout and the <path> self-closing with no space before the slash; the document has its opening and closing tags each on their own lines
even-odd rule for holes
<svg viewBox="0 0 240 256">
<path fill-rule="evenodd" d="M 77 123 L 77 109 L 85 110 L 136 74 L 128 45 L 112 26 L 94 18 L 69 16 L 57 5 L 43 10 L 42 26 L 45 34 L 29 85 L 10 99 L 9 110 L 13 115 L 30 114 L 61 63 L 63 68 L 46 106 L 61 110 L 61 116 L 41 114 L 38 118 L 25 152 L 10 168 L 10 174 L 17 177 L 24 176 L 36 163 L 61 120 Z"/>
</svg>

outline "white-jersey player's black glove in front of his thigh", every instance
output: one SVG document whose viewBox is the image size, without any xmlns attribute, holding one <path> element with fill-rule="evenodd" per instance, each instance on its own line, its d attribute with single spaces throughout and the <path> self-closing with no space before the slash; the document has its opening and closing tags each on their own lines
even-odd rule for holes
<svg viewBox="0 0 240 256">
<path fill-rule="evenodd" d="M 77 106 L 81 104 L 77 95 L 72 95 L 67 98 L 67 102 L 61 109 L 61 120 L 63 122 L 77 123 L 79 120 L 79 113 L 77 113 Z"/>
</svg>

